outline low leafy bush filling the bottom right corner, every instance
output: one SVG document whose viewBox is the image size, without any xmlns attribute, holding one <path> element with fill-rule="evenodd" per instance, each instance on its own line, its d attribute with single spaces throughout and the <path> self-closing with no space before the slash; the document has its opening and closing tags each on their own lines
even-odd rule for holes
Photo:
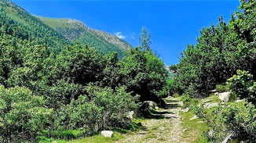
<svg viewBox="0 0 256 143">
<path fill-rule="evenodd" d="M 256 109 L 250 102 L 236 102 L 230 106 L 218 106 L 206 112 L 203 107 L 195 107 L 196 115 L 211 128 L 208 138 L 221 142 L 227 134 L 239 141 L 256 141 Z"/>
</svg>

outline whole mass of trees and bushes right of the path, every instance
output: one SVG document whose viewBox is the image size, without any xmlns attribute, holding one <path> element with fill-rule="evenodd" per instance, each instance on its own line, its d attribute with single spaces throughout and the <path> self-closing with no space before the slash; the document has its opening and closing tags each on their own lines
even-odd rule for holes
<svg viewBox="0 0 256 143">
<path fill-rule="evenodd" d="M 240 11 L 232 14 L 229 23 L 220 17 L 216 26 L 203 28 L 198 43 L 188 45 L 180 62 L 170 66 L 177 72 L 170 93 L 183 94 L 185 106 L 193 105 L 194 113 L 209 127 L 205 137 L 210 142 L 221 142 L 229 134 L 237 141 L 256 139 L 256 2 L 240 3 Z M 206 98 L 215 87 L 243 101 L 213 109 L 199 107 L 198 98 Z"/>
</svg>

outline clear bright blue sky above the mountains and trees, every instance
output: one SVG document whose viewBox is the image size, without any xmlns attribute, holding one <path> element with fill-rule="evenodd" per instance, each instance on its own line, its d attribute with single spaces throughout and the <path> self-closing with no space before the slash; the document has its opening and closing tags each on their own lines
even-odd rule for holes
<svg viewBox="0 0 256 143">
<path fill-rule="evenodd" d="M 29 13 L 50 18 L 81 20 L 87 26 L 116 34 L 133 46 L 139 45 L 141 28 L 152 34 L 151 48 L 166 65 L 178 63 L 187 44 L 196 44 L 199 30 L 229 21 L 239 0 L 12 0 Z"/>
</svg>

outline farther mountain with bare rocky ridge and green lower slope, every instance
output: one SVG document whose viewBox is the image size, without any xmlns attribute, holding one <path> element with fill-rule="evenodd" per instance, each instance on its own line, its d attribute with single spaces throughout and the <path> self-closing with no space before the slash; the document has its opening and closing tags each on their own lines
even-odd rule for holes
<svg viewBox="0 0 256 143">
<path fill-rule="evenodd" d="M 119 52 L 119 58 L 122 58 L 132 48 L 126 41 L 104 31 L 91 29 L 79 20 L 35 17 L 52 27 L 68 41 L 79 41 L 80 44 L 96 48 L 104 54 L 115 51 Z"/>
</svg>

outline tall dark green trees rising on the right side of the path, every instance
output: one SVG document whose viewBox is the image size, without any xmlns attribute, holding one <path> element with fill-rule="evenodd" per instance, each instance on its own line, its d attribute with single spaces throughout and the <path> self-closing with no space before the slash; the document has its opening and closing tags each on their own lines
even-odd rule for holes
<svg viewBox="0 0 256 143">
<path fill-rule="evenodd" d="M 181 91 L 196 91 L 193 97 L 205 96 L 236 70 L 247 70 L 256 77 L 255 6 L 254 1 L 241 1 L 240 11 L 229 23 L 220 17 L 215 27 L 200 31 L 196 46 L 188 45 L 177 64 Z"/>
</svg>

